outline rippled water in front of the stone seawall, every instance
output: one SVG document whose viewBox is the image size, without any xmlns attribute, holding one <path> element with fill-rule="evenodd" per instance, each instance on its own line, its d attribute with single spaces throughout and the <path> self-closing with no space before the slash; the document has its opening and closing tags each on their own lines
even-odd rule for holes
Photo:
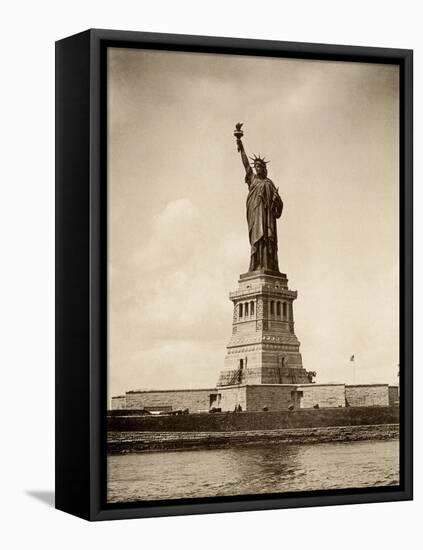
<svg viewBox="0 0 423 550">
<path fill-rule="evenodd" d="M 398 485 L 398 440 L 108 457 L 109 502 Z"/>
</svg>

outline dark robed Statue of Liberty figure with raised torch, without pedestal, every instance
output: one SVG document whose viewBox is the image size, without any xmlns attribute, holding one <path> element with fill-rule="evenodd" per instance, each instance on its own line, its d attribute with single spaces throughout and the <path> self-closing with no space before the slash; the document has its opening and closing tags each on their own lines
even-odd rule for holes
<svg viewBox="0 0 423 550">
<path fill-rule="evenodd" d="M 247 222 L 251 245 L 249 271 L 264 269 L 279 273 L 276 220 L 282 215 L 283 202 L 278 189 L 267 177 L 268 161 L 260 155 L 254 155 L 253 158 L 250 157 L 254 170 L 251 167 L 241 141 L 244 135 L 241 127 L 242 123 L 236 124 L 234 136 L 248 185 Z"/>
</svg>

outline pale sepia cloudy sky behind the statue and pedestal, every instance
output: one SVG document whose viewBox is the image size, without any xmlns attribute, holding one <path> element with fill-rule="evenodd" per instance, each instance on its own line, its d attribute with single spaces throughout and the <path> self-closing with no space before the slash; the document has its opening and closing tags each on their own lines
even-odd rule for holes
<svg viewBox="0 0 423 550">
<path fill-rule="evenodd" d="M 109 396 L 217 381 L 250 254 L 240 121 L 284 202 L 304 367 L 396 383 L 397 67 L 108 51 Z"/>
</svg>

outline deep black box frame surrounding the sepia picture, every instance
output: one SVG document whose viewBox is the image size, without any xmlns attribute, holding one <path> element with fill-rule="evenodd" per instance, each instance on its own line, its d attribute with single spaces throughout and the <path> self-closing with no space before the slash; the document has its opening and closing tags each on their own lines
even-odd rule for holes
<svg viewBox="0 0 423 550">
<path fill-rule="evenodd" d="M 107 504 L 108 47 L 291 57 L 400 68 L 400 485 Z M 91 29 L 56 43 L 56 508 L 108 520 L 412 499 L 413 52 Z"/>
</svg>

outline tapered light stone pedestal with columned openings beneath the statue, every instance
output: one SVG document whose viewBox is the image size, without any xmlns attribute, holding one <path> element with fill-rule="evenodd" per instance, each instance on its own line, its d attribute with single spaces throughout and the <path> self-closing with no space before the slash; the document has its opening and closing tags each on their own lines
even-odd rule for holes
<svg viewBox="0 0 423 550">
<path fill-rule="evenodd" d="M 309 383 L 294 332 L 293 301 L 284 273 L 259 270 L 239 278 L 232 337 L 218 386 Z"/>
</svg>

